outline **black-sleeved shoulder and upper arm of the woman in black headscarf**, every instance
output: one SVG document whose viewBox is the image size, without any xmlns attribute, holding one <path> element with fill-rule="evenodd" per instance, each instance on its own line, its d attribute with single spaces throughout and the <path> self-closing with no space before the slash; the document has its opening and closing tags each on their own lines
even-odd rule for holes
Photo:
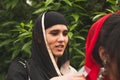
<svg viewBox="0 0 120 80">
<path fill-rule="evenodd" d="M 14 61 L 9 69 L 6 80 L 27 80 L 27 72 L 24 66 L 18 61 Z"/>
</svg>

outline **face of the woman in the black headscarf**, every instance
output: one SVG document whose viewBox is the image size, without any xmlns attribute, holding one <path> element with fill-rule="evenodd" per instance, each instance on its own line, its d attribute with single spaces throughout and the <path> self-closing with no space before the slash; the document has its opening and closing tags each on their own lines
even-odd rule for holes
<svg viewBox="0 0 120 80">
<path fill-rule="evenodd" d="M 62 56 L 68 43 L 67 26 L 59 24 L 47 28 L 46 39 L 53 55 Z"/>
</svg>

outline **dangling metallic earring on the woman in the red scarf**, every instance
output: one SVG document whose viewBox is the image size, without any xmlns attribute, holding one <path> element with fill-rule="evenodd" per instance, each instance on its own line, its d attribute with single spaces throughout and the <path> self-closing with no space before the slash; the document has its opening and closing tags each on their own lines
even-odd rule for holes
<svg viewBox="0 0 120 80">
<path fill-rule="evenodd" d="M 104 67 L 100 68 L 100 72 L 99 72 L 97 80 L 103 80 L 104 79 L 104 76 L 106 75 L 106 68 L 105 68 L 106 64 L 107 64 L 107 60 L 104 60 L 103 61 Z"/>
</svg>

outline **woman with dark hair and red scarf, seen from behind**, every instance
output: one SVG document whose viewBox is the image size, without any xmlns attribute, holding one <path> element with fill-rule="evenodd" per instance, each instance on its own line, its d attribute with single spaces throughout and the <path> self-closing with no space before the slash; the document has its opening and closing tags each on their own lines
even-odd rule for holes
<svg viewBox="0 0 120 80">
<path fill-rule="evenodd" d="M 87 80 L 120 79 L 120 12 L 107 14 L 90 28 L 86 40 Z"/>
</svg>

